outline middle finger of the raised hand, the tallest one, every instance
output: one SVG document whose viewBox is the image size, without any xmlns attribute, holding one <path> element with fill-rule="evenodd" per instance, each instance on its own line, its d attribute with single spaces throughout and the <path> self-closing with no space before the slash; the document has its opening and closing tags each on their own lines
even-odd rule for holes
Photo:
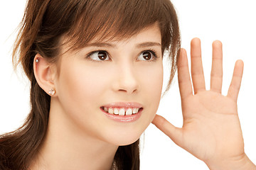
<svg viewBox="0 0 256 170">
<path fill-rule="evenodd" d="M 191 77 L 195 94 L 198 91 L 206 90 L 199 38 L 191 40 Z"/>
</svg>

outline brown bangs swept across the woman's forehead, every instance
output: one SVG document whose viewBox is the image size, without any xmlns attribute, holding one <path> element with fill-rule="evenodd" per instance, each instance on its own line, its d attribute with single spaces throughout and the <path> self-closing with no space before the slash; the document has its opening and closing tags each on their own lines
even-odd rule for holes
<svg viewBox="0 0 256 170">
<path fill-rule="evenodd" d="M 154 23 L 159 23 L 161 29 L 160 24 L 166 21 L 162 21 L 165 17 L 160 1 L 87 1 L 78 9 L 80 13 L 76 17 L 77 21 L 67 34 L 68 43 L 75 50 L 92 40 L 99 42 L 130 38 Z"/>
</svg>

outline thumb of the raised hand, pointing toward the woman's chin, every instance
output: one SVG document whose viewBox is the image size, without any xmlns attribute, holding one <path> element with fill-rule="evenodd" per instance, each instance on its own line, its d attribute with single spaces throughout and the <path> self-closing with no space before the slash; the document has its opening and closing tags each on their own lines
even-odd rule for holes
<svg viewBox="0 0 256 170">
<path fill-rule="evenodd" d="M 159 128 L 159 130 L 164 132 L 165 135 L 169 136 L 177 145 L 181 143 L 181 128 L 176 128 L 161 115 L 156 115 L 152 123 L 156 126 L 156 128 Z"/>
</svg>

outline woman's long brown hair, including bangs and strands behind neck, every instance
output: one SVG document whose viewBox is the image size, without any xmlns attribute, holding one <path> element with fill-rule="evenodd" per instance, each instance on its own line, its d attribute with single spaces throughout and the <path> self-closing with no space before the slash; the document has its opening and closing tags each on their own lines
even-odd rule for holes
<svg viewBox="0 0 256 170">
<path fill-rule="evenodd" d="M 50 96 L 36 82 L 33 59 L 37 53 L 58 62 L 59 40 L 65 35 L 79 49 L 95 35 L 101 40 L 129 38 L 139 30 L 159 24 L 162 52 L 169 51 L 171 74 L 176 72 L 180 33 L 169 0 L 28 0 L 13 52 L 14 66 L 21 64 L 31 81 L 31 113 L 21 128 L 0 137 L 0 169 L 28 169 L 46 135 Z M 115 169 L 139 169 L 139 140 L 117 149 Z"/>
</svg>

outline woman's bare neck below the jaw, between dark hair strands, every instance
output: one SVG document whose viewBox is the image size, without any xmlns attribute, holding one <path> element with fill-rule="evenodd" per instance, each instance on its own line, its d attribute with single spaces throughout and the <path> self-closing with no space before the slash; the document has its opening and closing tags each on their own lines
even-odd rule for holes
<svg viewBox="0 0 256 170">
<path fill-rule="evenodd" d="M 31 169 L 112 169 L 118 146 L 72 127 L 60 114 L 50 108 L 46 138 Z"/>
</svg>

